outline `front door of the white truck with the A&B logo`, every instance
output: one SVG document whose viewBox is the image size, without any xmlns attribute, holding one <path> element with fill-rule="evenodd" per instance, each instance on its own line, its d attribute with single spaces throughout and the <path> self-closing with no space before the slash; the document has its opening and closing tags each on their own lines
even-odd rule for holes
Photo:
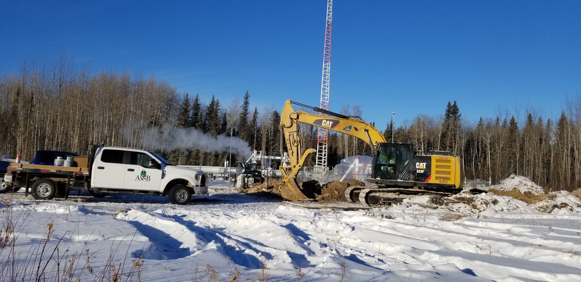
<svg viewBox="0 0 581 282">
<path fill-rule="evenodd" d="M 130 154 L 125 171 L 124 189 L 159 191 L 162 183 L 162 166 L 149 154 L 128 151 Z M 153 167 L 149 167 L 153 164 Z"/>
</svg>

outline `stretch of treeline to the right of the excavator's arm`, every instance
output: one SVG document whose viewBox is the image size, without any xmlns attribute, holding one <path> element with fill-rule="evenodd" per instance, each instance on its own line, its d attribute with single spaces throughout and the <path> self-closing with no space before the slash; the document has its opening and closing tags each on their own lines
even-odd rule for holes
<svg viewBox="0 0 581 282">
<path fill-rule="evenodd" d="M 418 115 L 393 133 L 394 139 L 415 144 L 419 151 L 453 151 L 464 160 L 467 179 L 498 183 L 511 173 L 527 176 L 553 190 L 581 186 L 581 93 L 566 102 L 555 122 L 533 111 L 518 115 L 462 119 L 456 102 L 443 117 Z M 390 125 L 385 135 L 392 135 Z"/>
</svg>

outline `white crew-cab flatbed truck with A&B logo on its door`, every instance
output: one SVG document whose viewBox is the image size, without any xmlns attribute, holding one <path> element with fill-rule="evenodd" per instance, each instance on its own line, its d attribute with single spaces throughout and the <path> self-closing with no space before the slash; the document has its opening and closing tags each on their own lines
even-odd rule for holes
<svg viewBox="0 0 581 282">
<path fill-rule="evenodd" d="M 153 151 L 92 146 L 88 157 L 74 160 L 77 167 L 10 164 L 4 180 L 26 193 L 30 187 L 37 200 L 66 198 L 71 190 L 98 198 L 107 193 L 167 196 L 178 205 L 188 204 L 192 195 L 208 196 L 206 173 L 172 165 Z"/>
</svg>

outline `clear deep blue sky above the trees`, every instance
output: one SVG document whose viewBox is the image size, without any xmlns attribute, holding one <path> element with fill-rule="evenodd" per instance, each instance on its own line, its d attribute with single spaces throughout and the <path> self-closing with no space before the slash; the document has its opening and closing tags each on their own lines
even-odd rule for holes
<svg viewBox="0 0 581 282">
<path fill-rule="evenodd" d="M 0 73 L 24 59 L 73 57 L 92 70 L 153 75 L 252 106 L 317 106 L 327 2 L 4 1 Z M 331 110 L 359 104 L 384 128 L 499 109 L 557 117 L 581 91 L 581 1 L 333 3 Z"/>
</svg>

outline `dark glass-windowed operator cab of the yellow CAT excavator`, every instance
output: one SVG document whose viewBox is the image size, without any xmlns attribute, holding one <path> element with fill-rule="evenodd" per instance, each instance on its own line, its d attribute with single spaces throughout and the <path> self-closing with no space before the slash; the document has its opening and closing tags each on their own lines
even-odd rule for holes
<svg viewBox="0 0 581 282">
<path fill-rule="evenodd" d="M 413 180 L 411 173 L 413 152 L 413 144 L 379 143 L 373 160 L 373 178 Z"/>
</svg>

